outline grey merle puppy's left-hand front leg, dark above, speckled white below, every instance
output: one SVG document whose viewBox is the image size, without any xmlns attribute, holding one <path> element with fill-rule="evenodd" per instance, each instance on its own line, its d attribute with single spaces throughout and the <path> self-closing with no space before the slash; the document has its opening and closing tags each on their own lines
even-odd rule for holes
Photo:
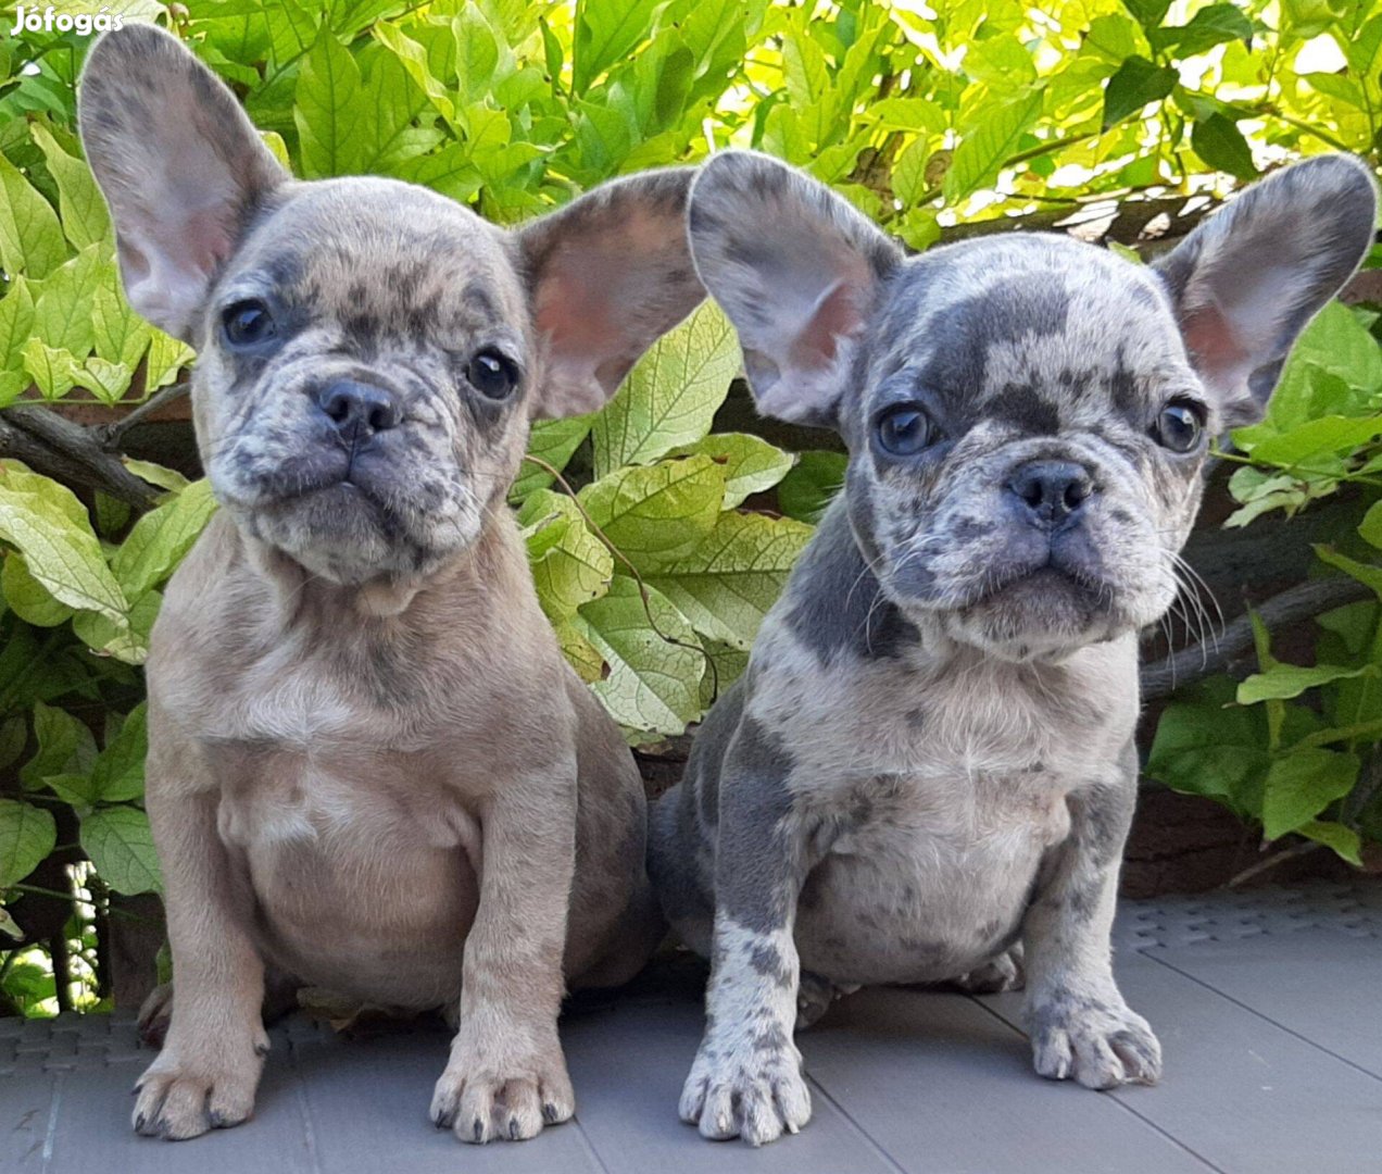
<svg viewBox="0 0 1382 1174">
<path fill-rule="evenodd" d="M 720 785 L 706 1026 L 680 1105 L 681 1120 L 708 1138 L 763 1145 L 811 1117 L 792 1041 L 804 852 L 789 772 L 777 740 L 745 718 Z"/>
</svg>

